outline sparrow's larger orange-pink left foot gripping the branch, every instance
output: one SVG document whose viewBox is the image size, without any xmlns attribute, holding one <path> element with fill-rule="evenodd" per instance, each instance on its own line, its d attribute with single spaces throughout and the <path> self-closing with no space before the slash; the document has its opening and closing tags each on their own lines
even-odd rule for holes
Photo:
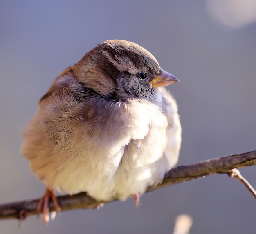
<svg viewBox="0 0 256 234">
<path fill-rule="evenodd" d="M 54 207 L 56 209 L 56 211 L 61 214 L 61 207 L 58 204 L 58 200 L 56 197 L 56 194 L 54 192 L 54 190 L 50 190 L 50 189 L 46 189 L 45 194 L 43 195 L 43 197 L 40 199 L 38 206 L 37 206 L 37 216 L 39 217 L 39 214 L 42 212 L 43 213 L 43 223 L 45 223 L 45 225 L 47 225 L 49 223 L 49 201 L 50 199 L 52 199 L 52 202 L 54 204 Z M 56 214 L 56 212 L 55 212 Z M 55 216 L 53 216 L 55 217 Z M 54 219 L 54 218 L 52 218 Z"/>
</svg>

